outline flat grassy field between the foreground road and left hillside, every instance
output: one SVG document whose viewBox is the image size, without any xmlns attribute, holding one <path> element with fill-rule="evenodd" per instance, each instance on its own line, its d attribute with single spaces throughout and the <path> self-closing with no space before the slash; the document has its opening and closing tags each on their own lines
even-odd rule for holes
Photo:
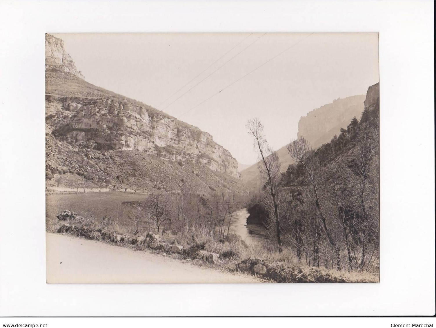
<svg viewBox="0 0 436 328">
<path fill-rule="evenodd" d="M 45 219 L 56 220 L 57 214 L 70 210 L 85 218 L 102 220 L 104 216 L 110 216 L 117 222 L 127 223 L 129 211 L 123 202 L 143 201 L 146 197 L 121 191 L 47 194 Z"/>
</svg>

